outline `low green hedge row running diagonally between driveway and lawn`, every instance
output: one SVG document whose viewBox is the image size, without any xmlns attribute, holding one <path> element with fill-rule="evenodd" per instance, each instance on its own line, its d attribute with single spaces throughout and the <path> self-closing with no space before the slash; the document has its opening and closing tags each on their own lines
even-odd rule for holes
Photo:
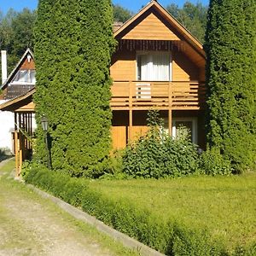
<svg viewBox="0 0 256 256">
<path fill-rule="evenodd" d="M 110 200 L 90 189 L 89 180 L 50 172 L 44 167 L 32 168 L 25 180 L 166 255 L 230 255 L 221 241 L 212 241 L 206 230 L 189 230 L 174 221 L 164 223 L 131 201 Z M 239 247 L 236 252 L 232 255 L 253 255 L 253 248 Z"/>
</svg>

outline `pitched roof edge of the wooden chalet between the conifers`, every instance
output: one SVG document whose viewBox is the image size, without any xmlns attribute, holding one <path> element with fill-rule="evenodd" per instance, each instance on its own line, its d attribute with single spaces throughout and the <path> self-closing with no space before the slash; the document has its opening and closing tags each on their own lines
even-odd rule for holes
<svg viewBox="0 0 256 256">
<path fill-rule="evenodd" d="M 119 29 L 113 33 L 114 37 L 117 39 L 123 38 L 126 31 L 129 32 L 133 26 L 136 26 L 135 24 L 137 23 L 137 20 L 145 15 L 147 11 L 150 13 L 151 10 L 159 13 L 172 27 L 175 28 L 175 30 L 182 36 L 183 41 L 189 45 L 189 48 L 194 49 L 197 54 L 201 55 L 202 58 L 205 58 L 205 51 L 201 42 L 155 0 L 148 3 L 137 13 L 137 15 L 134 15 L 130 20 L 127 20 L 123 26 L 120 26 Z"/>
</svg>

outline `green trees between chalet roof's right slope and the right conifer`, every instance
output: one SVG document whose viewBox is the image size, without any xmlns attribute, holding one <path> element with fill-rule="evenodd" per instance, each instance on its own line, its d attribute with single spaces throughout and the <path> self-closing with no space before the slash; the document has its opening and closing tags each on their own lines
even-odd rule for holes
<svg viewBox="0 0 256 256">
<path fill-rule="evenodd" d="M 171 3 L 166 9 L 185 26 L 195 38 L 202 43 L 204 42 L 207 27 L 207 6 L 199 2 L 194 4 L 187 1 L 183 4 L 182 8 L 178 8 L 176 3 Z"/>
</svg>

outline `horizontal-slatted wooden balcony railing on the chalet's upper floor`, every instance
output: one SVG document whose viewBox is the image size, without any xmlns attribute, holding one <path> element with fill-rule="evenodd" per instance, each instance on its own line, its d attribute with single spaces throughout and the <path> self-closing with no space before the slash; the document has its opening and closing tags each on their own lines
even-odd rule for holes
<svg viewBox="0 0 256 256">
<path fill-rule="evenodd" d="M 196 82 L 114 81 L 112 109 L 195 109 L 204 108 L 206 88 Z"/>
</svg>

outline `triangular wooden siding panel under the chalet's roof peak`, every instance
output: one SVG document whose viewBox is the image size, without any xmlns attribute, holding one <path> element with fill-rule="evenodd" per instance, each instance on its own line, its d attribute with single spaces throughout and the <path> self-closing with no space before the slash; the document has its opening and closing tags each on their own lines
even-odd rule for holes
<svg viewBox="0 0 256 256">
<path fill-rule="evenodd" d="M 160 17 L 151 13 L 126 33 L 123 39 L 180 40 Z"/>
</svg>

